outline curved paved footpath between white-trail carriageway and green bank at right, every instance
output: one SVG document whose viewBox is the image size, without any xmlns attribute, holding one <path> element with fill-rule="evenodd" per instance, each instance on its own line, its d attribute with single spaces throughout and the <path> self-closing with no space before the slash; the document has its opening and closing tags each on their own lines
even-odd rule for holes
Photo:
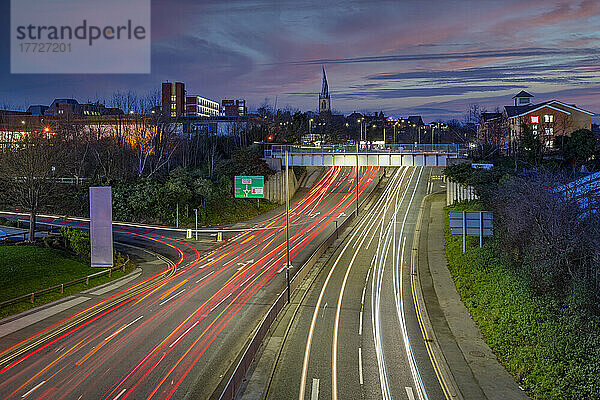
<svg viewBox="0 0 600 400">
<path fill-rule="evenodd" d="M 460 299 L 444 248 L 445 194 L 423 202 L 418 243 L 421 289 L 435 340 L 464 399 L 528 399 L 477 328 Z"/>
</svg>

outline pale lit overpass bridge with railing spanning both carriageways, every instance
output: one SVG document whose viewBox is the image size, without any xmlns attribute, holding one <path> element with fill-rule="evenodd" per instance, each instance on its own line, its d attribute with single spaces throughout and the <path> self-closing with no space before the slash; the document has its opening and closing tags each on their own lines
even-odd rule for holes
<svg viewBox="0 0 600 400">
<path fill-rule="evenodd" d="M 302 167 L 445 167 L 449 158 L 458 158 L 457 144 L 361 144 L 356 145 L 282 145 L 265 149 L 265 158 L 281 160 L 290 166 Z"/>
</svg>

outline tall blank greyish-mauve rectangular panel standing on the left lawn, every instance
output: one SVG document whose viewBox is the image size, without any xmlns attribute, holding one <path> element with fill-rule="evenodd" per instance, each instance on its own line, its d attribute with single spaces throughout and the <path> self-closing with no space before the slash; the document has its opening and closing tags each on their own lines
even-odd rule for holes
<svg viewBox="0 0 600 400">
<path fill-rule="evenodd" d="M 113 266 L 112 192 L 110 186 L 90 187 L 90 252 L 92 267 Z"/>
</svg>

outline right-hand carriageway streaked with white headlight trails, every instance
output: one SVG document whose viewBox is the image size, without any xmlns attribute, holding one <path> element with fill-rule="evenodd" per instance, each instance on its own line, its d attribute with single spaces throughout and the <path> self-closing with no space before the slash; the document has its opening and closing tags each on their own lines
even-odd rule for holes
<svg viewBox="0 0 600 400">
<path fill-rule="evenodd" d="M 297 300 L 268 399 L 451 398 L 423 329 L 413 236 L 430 167 L 393 171 Z M 384 181 L 385 183 L 385 181 Z"/>
</svg>

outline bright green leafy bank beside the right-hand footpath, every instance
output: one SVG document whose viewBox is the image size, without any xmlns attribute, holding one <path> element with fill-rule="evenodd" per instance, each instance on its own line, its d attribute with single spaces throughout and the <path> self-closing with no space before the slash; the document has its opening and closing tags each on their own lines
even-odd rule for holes
<svg viewBox="0 0 600 400">
<path fill-rule="evenodd" d="M 450 234 L 448 210 L 478 210 L 477 202 L 446 209 L 446 256 L 460 296 L 500 362 L 535 399 L 600 398 L 600 321 L 573 293 L 533 296 L 512 259 L 491 238 Z"/>
</svg>

